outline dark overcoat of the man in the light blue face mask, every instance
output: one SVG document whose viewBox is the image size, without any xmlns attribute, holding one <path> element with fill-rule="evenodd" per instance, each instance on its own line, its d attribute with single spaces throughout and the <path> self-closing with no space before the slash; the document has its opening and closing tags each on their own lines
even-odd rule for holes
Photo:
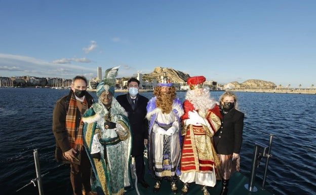
<svg viewBox="0 0 316 195">
<path fill-rule="evenodd" d="M 135 108 L 132 108 L 130 94 L 119 95 L 116 100 L 128 113 L 132 127 L 132 156 L 138 156 L 144 152 L 144 139 L 148 139 L 148 121 L 146 119 L 148 98 L 137 94 Z"/>
</svg>

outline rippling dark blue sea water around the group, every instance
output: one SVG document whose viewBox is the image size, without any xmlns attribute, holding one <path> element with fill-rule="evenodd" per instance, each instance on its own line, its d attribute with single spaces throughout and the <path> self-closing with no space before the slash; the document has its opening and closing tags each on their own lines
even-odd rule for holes
<svg viewBox="0 0 316 195">
<path fill-rule="evenodd" d="M 52 112 L 55 102 L 68 94 L 55 89 L 0 89 L 0 189 L 1 194 L 38 194 L 37 186 L 20 187 L 36 178 L 33 149 L 39 163 L 45 194 L 71 194 L 69 168 L 54 160 Z M 218 100 L 223 92 L 211 92 Z M 119 95 L 122 93 L 116 93 Z M 178 92 L 184 100 L 185 92 Z M 250 175 L 254 143 L 273 143 L 266 189 L 274 194 L 316 193 L 316 96 L 236 92 L 245 113 L 241 172 Z M 95 97 L 95 92 L 92 93 Z M 152 93 L 142 93 L 151 98 Z M 265 158 L 257 170 L 262 183 Z M 35 182 L 36 183 L 36 182 Z M 36 183 L 37 184 L 37 183 Z"/>
</svg>

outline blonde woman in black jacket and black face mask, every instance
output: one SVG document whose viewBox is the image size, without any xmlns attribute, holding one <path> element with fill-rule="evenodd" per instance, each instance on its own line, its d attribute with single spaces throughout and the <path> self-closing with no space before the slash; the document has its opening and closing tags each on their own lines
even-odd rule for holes
<svg viewBox="0 0 316 195">
<path fill-rule="evenodd" d="M 220 98 L 220 108 L 223 115 L 222 125 L 213 139 L 216 152 L 223 167 L 221 195 L 228 192 L 230 175 L 239 171 L 239 153 L 243 142 L 245 114 L 239 110 L 236 95 L 230 91 L 224 92 Z"/>
</svg>

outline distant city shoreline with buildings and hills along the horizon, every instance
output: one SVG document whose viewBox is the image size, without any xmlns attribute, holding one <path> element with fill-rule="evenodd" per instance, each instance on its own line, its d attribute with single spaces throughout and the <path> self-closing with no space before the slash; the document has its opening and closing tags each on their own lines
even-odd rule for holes
<svg viewBox="0 0 316 195">
<path fill-rule="evenodd" d="M 180 77 L 179 75 L 182 74 Z M 172 68 L 156 67 L 153 72 L 149 74 L 143 74 L 142 71 L 137 71 L 130 77 L 116 78 L 115 88 L 117 90 L 127 89 L 128 80 L 133 77 L 140 81 L 139 88 L 141 90 L 153 90 L 157 86 L 157 83 L 166 82 L 172 83 L 176 90 L 187 90 L 188 86 L 184 80 L 186 76 L 184 72 L 174 70 Z M 188 75 L 188 74 L 186 74 Z M 96 77 L 87 77 L 88 88 L 96 89 L 102 77 L 102 67 L 97 67 Z M 293 87 L 290 84 L 288 86 L 275 85 L 272 82 L 262 80 L 247 80 L 243 83 L 231 82 L 228 84 L 217 84 L 216 81 L 206 81 L 204 83 L 211 91 L 218 90 L 233 90 L 233 91 L 247 91 L 247 92 L 270 92 L 270 93 L 315 93 L 314 85 L 311 84 L 309 88 L 301 88 L 301 85 Z M 12 76 L 4 77 L 0 75 L 0 88 L 12 88 L 12 87 L 33 87 L 33 88 L 54 88 L 54 89 L 70 89 L 71 79 L 63 79 L 60 77 L 35 77 L 35 76 Z"/>
</svg>

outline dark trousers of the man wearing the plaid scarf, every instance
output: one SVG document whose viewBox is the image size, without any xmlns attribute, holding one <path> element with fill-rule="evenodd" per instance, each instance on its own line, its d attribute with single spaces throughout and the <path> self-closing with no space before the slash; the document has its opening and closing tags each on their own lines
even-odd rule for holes
<svg viewBox="0 0 316 195">
<path fill-rule="evenodd" d="M 70 181 L 74 195 L 82 195 L 82 188 L 91 191 L 91 164 L 86 150 L 81 151 L 81 165 L 70 164 Z"/>
</svg>

